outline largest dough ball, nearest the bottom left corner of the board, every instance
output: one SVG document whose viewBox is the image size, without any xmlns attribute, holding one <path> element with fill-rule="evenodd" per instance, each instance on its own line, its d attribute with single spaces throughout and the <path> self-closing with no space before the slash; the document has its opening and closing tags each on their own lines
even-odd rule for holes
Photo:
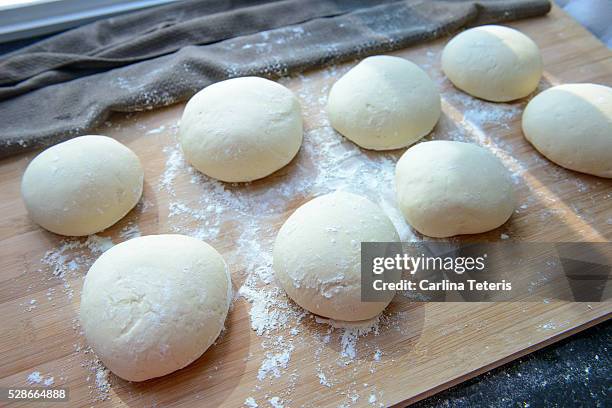
<svg viewBox="0 0 612 408">
<path fill-rule="evenodd" d="M 80 319 L 113 373 L 144 381 L 199 358 L 223 329 L 231 281 L 213 247 L 149 235 L 106 251 L 85 277 Z"/>
</svg>

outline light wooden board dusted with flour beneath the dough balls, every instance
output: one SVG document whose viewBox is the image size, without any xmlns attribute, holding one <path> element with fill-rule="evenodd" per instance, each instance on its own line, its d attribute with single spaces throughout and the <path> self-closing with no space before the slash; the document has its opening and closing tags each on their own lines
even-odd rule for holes
<svg viewBox="0 0 612 408">
<path fill-rule="evenodd" d="M 612 85 L 610 50 L 559 9 L 509 25 L 540 46 L 541 89 Z M 520 131 L 526 101 L 489 104 L 455 90 L 439 68 L 445 41 L 395 53 L 423 67 L 441 88 L 444 113 L 430 138 L 489 147 L 513 172 L 519 195 L 506 225 L 470 239 L 610 241 L 612 181 L 566 171 L 538 155 Z M 265 52 L 265 43 L 258 46 Z M 282 80 L 302 102 L 304 146 L 289 166 L 246 186 L 212 182 L 181 161 L 175 137 L 182 106 L 114 116 L 98 132 L 139 155 L 144 199 L 89 240 L 66 241 L 28 219 L 19 183 L 34 153 L 0 161 L 0 386 L 25 386 L 29 377 L 37 386 L 68 387 L 71 407 L 239 407 L 245 400 L 261 407 L 403 405 L 609 318 L 609 302 L 398 301 L 374 331 L 359 333 L 317 323 L 288 302 L 270 279 L 270 246 L 291 212 L 316 195 L 336 188 L 367 195 L 392 215 L 403 239 L 422 239 L 393 204 L 393 163 L 403 151 L 362 151 L 327 126 L 325 95 L 352 65 Z M 167 232 L 215 246 L 238 295 L 226 331 L 203 357 L 166 377 L 128 383 L 96 362 L 80 333 L 82 277 L 109 239 L 116 244 Z M 545 280 L 534 271 L 534 285 Z"/>
</svg>

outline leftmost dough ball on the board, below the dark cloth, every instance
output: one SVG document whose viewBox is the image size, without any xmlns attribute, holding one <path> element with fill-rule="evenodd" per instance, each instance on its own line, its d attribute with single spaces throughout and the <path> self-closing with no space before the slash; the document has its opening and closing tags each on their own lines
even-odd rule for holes
<svg viewBox="0 0 612 408">
<path fill-rule="evenodd" d="M 32 220 L 61 235 L 100 232 L 123 218 L 142 196 L 138 156 L 106 136 L 81 136 L 36 156 L 21 182 Z"/>
</svg>

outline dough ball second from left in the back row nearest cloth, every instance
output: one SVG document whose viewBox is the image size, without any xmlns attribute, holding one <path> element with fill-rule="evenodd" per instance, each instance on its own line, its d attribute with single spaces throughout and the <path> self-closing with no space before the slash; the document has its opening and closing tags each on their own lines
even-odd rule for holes
<svg viewBox="0 0 612 408">
<path fill-rule="evenodd" d="M 290 90 L 267 79 L 221 81 L 189 100 L 180 141 L 187 161 L 207 176 L 257 180 L 285 166 L 300 149 L 300 103 Z"/>
</svg>

